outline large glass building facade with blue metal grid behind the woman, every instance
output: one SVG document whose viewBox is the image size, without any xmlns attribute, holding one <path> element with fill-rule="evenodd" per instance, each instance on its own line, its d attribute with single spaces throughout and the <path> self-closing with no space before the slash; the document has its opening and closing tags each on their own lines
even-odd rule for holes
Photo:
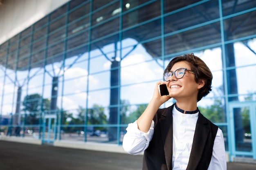
<svg viewBox="0 0 256 170">
<path fill-rule="evenodd" d="M 198 108 L 222 129 L 230 161 L 256 159 L 255 0 L 67 2 L 0 44 L 1 134 L 121 145 L 185 53 L 213 73 Z"/>
</svg>

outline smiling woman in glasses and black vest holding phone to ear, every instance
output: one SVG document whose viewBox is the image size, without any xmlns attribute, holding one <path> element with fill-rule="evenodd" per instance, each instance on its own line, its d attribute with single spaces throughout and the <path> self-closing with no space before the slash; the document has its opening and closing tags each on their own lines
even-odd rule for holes
<svg viewBox="0 0 256 170">
<path fill-rule="evenodd" d="M 222 131 L 197 107 L 211 81 L 210 69 L 193 53 L 171 60 L 146 110 L 126 128 L 123 148 L 132 155 L 144 151 L 143 170 L 227 169 Z M 159 95 L 159 84 L 169 95 Z M 159 109 L 172 97 L 175 104 Z"/>
</svg>

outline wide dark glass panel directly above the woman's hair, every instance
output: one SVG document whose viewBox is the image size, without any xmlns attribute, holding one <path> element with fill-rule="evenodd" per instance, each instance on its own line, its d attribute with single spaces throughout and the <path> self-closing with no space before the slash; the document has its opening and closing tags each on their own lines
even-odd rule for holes
<svg viewBox="0 0 256 170">
<path fill-rule="evenodd" d="M 216 29 L 217 28 L 217 29 Z M 220 23 L 216 22 L 165 38 L 165 55 L 221 42 Z"/>
</svg>

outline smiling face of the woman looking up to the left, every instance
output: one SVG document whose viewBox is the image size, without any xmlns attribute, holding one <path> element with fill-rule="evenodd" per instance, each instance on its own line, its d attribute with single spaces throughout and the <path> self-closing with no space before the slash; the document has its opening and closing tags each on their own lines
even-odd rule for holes
<svg viewBox="0 0 256 170">
<path fill-rule="evenodd" d="M 186 61 L 177 62 L 171 68 L 171 72 L 179 68 L 187 68 L 191 70 L 191 66 Z M 196 83 L 195 75 L 190 71 L 186 71 L 184 77 L 177 79 L 174 75 L 166 82 L 169 96 L 179 101 L 197 100 L 198 90 L 202 88 L 204 82 Z"/>
</svg>

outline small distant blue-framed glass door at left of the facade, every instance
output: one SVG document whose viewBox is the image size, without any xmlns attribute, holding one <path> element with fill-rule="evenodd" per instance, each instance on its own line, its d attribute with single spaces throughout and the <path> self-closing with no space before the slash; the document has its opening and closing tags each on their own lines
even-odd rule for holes
<svg viewBox="0 0 256 170">
<path fill-rule="evenodd" d="M 45 115 L 43 121 L 42 143 L 51 144 L 56 139 L 56 115 Z"/>
</svg>

